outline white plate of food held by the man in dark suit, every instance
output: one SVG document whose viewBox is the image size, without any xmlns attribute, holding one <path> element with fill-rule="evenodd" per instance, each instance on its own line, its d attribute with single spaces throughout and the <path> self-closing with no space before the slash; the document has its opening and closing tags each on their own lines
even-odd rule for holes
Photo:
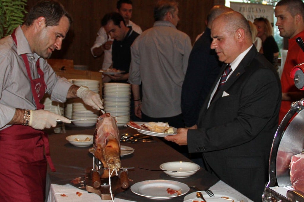
<svg viewBox="0 0 304 202">
<path fill-rule="evenodd" d="M 140 121 L 130 121 L 126 124 L 130 128 L 137 130 L 139 133 L 145 135 L 165 137 L 168 135 L 176 135 L 177 128 L 171 127 L 168 123 L 163 122 L 140 122 Z"/>
</svg>

